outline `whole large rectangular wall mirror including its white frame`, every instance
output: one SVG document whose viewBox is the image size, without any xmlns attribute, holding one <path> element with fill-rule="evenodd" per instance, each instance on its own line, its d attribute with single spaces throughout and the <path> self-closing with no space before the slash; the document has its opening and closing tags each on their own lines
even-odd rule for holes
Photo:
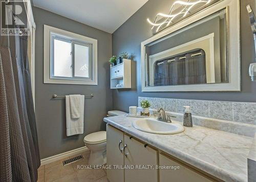
<svg viewBox="0 0 256 182">
<path fill-rule="evenodd" d="M 142 42 L 142 91 L 240 91 L 237 12 L 222 1 Z"/>
</svg>

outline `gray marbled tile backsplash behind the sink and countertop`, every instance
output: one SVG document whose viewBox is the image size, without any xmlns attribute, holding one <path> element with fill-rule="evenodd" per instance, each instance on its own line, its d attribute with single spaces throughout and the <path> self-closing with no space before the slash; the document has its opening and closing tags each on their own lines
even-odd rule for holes
<svg viewBox="0 0 256 182">
<path fill-rule="evenodd" d="M 183 113 L 183 106 L 190 106 L 191 113 L 196 116 L 256 124 L 256 102 L 138 97 L 138 106 L 145 99 L 151 102 L 152 109 L 164 108 L 165 111 Z"/>
</svg>

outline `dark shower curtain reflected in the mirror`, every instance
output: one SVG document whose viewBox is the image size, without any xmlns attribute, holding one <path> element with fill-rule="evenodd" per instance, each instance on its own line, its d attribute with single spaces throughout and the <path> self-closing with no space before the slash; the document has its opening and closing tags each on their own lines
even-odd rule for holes
<svg viewBox="0 0 256 182">
<path fill-rule="evenodd" d="M 192 56 L 197 53 L 201 55 Z M 206 62 L 203 49 L 157 61 L 154 67 L 155 86 L 206 83 Z"/>
</svg>

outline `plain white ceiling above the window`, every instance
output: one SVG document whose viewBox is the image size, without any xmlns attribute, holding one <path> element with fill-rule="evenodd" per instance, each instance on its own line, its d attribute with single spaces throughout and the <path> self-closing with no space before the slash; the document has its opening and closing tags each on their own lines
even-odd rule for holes
<svg viewBox="0 0 256 182">
<path fill-rule="evenodd" d="M 34 6 L 113 33 L 148 0 L 33 0 Z"/>
</svg>

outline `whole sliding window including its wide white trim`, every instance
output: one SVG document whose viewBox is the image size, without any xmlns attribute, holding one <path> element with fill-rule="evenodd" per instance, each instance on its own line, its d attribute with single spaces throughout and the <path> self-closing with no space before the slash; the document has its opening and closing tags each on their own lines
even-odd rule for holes
<svg viewBox="0 0 256 182">
<path fill-rule="evenodd" d="M 44 83 L 97 85 L 97 40 L 45 25 Z"/>
</svg>

